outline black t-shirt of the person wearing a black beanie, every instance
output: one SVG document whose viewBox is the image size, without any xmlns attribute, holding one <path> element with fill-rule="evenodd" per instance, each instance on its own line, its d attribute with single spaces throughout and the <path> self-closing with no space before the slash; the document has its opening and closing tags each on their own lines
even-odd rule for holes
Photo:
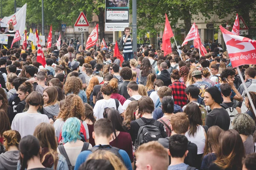
<svg viewBox="0 0 256 170">
<path fill-rule="evenodd" d="M 206 122 L 209 128 L 217 125 L 223 130 L 228 130 L 230 126 L 230 116 L 224 108 L 215 108 L 206 115 Z"/>
</svg>

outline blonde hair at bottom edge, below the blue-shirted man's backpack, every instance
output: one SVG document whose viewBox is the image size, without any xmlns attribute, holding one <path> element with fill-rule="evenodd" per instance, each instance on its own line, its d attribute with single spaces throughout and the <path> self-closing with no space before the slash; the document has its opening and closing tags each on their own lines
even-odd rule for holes
<svg viewBox="0 0 256 170">
<path fill-rule="evenodd" d="M 107 150 L 97 150 L 91 153 L 87 160 L 89 159 L 104 159 L 110 161 L 115 170 L 127 170 L 123 162 L 114 153 Z"/>
</svg>

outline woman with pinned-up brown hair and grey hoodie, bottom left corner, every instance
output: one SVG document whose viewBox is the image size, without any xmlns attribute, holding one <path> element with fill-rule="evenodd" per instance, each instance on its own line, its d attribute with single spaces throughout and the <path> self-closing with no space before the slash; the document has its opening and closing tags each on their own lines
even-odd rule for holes
<svg viewBox="0 0 256 170">
<path fill-rule="evenodd" d="M 0 169 L 17 169 L 17 163 L 20 159 L 19 142 L 20 133 L 16 130 L 7 130 L 3 133 L 3 145 L 6 152 L 0 154 Z"/>
</svg>

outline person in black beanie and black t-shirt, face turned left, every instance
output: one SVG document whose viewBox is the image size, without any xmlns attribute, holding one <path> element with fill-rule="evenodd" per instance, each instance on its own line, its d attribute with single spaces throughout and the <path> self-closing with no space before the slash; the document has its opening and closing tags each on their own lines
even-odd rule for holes
<svg viewBox="0 0 256 170">
<path fill-rule="evenodd" d="M 227 111 L 220 106 L 222 103 L 221 92 L 213 86 L 205 90 L 204 103 L 211 108 L 211 112 L 206 115 L 205 125 L 208 128 L 217 125 L 223 130 L 230 127 L 230 116 Z"/>
</svg>

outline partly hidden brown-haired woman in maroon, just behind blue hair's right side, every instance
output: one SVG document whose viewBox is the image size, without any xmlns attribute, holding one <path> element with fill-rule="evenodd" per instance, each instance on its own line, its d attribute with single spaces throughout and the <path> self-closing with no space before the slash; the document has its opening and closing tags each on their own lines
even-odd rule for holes
<svg viewBox="0 0 256 170">
<path fill-rule="evenodd" d="M 95 142 L 93 139 L 93 131 L 94 131 L 94 123 L 96 122 L 95 117 L 93 116 L 93 108 L 88 104 L 88 103 L 84 103 L 84 107 L 85 107 L 85 113 L 82 116 L 82 120 L 84 120 L 84 122 L 87 123 L 88 126 L 88 130 L 89 130 L 89 143 L 92 146 L 95 146 Z"/>
</svg>

